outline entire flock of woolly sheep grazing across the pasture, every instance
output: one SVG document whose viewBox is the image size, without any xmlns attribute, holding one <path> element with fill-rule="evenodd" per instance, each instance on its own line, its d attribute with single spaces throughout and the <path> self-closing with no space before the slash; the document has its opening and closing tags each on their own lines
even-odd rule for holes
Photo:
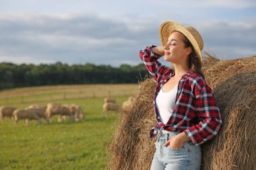
<svg viewBox="0 0 256 170">
<path fill-rule="evenodd" d="M 133 97 L 123 102 L 122 109 L 125 110 L 133 102 Z M 106 97 L 104 98 L 104 104 L 102 106 L 102 112 L 107 117 L 108 112 L 118 112 L 119 105 L 115 99 Z M 77 104 L 65 104 L 49 103 L 46 106 L 42 105 L 30 105 L 28 108 L 18 109 L 13 107 L 1 107 L 0 108 L 0 122 L 3 122 L 3 118 L 13 118 L 17 124 L 19 120 L 25 120 L 26 124 L 30 120 L 36 120 L 38 124 L 42 123 L 42 119 L 48 124 L 53 122 L 53 116 L 57 115 L 58 122 L 62 122 L 69 117 L 71 121 L 78 121 L 84 118 L 85 114 L 82 108 Z"/>
</svg>

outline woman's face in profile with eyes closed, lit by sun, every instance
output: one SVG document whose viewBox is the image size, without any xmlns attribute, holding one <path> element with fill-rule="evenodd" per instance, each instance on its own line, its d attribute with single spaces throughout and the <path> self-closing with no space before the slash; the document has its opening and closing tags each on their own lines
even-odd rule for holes
<svg viewBox="0 0 256 170">
<path fill-rule="evenodd" d="M 172 32 L 166 46 L 164 46 L 164 60 L 179 64 L 187 60 L 190 53 L 191 48 L 185 47 L 183 34 Z"/>
</svg>

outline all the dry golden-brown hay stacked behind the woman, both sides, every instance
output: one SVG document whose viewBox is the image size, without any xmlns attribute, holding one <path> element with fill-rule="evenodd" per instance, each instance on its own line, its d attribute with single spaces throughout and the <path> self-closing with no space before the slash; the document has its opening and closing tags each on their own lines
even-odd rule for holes
<svg viewBox="0 0 256 170">
<path fill-rule="evenodd" d="M 205 66 L 203 71 L 214 91 L 223 125 L 217 138 L 202 145 L 201 169 L 253 169 L 256 56 L 215 60 Z M 148 132 L 156 122 L 152 110 L 155 85 L 152 79 L 143 81 L 134 96 L 135 102 L 121 111 L 115 138 L 109 146 L 109 169 L 150 169 L 155 148 Z"/>
</svg>

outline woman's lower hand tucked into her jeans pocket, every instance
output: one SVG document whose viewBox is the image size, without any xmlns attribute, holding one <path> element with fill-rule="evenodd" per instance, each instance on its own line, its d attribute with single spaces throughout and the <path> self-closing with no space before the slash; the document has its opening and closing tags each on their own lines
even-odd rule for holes
<svg viewBox="0 0 256 170">
<path fill-rule="evenodd" d="M 165 142 L 164 146 L 170 145 L 170 148 L 183 148 L 183 143 L 189 140 L 190 138 L 188 138 L 184 132 L 181 132 L 177 136 L 174 136 Z"/>
</svg>

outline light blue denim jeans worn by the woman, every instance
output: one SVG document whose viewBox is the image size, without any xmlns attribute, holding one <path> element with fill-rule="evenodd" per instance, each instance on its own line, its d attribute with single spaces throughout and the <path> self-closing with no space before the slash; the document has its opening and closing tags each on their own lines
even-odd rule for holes
<svg viewBox="0 0 256 170">
<path fill-rule="evenodd" d="M 166 132 L 166 131 L 165 131 Z M 155 142 L 151 170 L 199 170 L 201 166 L 201 146 L 184 142 L 183 148 L 170 148 L 164 143 L 179 134 L 178 132 L 159 132 Z"/>
</svg>

